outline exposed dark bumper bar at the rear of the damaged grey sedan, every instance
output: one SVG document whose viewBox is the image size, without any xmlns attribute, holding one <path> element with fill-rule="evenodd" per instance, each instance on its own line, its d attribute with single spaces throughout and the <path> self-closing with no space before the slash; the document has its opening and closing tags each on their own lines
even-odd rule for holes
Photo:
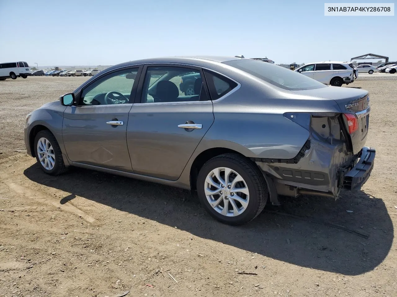
<svg viewBox="0 0 397 297">
<path fill-rule="evenodd" d="M 339 187 L 352 192 L 360 190 L 374 168 L 375 154 L 374 148 L 363 147 L 358 163 L 351 169 L 344 168 L 339 171 Z"/>
</svg>

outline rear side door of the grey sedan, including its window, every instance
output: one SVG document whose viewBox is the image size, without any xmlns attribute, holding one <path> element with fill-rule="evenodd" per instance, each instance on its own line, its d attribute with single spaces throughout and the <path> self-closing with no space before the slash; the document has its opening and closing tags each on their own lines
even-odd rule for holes
<svg viewBox="0 0 397 297">
<path fill-rule="evenodd" d="M 132 167 L 134 173 L 175 181 L 214 122 L 212 101 L 200 69 L 150 66 L 144 72 L 127 126 Z M 189 95 L 181 89 L 187 75 L 195 77 Z"/>
</svg>

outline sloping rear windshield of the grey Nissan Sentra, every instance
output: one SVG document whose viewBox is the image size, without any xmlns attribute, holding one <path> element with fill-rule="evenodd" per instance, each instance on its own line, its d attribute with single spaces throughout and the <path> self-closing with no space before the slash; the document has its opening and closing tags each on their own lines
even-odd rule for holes
<svg viewBox="0 0 397 297">
<path fill-rule="evenodd" d="M 224 64 L 243 70 L 279 88 L 299 91 L 325 88 L 326 86 L 304 74 L 256 60 L 226 61 Z"/>
</svg>

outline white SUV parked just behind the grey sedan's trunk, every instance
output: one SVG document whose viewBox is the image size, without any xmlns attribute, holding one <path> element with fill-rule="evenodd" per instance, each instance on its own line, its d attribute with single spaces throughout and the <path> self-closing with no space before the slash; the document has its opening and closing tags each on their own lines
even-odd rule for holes
<svg viewBox="0 0 397 297">
<path fill-rule="evenodd" d="M 326 85 L 341 87 L 354 82 L 353 68 L 347 62 L 324 61 L 306 64 L 295 70 Z"/>
</svg>

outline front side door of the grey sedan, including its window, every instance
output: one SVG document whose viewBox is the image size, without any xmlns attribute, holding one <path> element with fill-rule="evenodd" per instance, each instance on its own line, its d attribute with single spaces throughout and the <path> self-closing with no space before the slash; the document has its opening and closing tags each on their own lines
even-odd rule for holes
<svg viewBox="0 0 397 297">
<path fill-rule="evenodd" d="M 137 72 L 128 68 L 98 77 L 83 88 L 77 106 L 66 108 L 62 136 L 72 162 L 132 171 L 125 133 Z"/>
</svg>

